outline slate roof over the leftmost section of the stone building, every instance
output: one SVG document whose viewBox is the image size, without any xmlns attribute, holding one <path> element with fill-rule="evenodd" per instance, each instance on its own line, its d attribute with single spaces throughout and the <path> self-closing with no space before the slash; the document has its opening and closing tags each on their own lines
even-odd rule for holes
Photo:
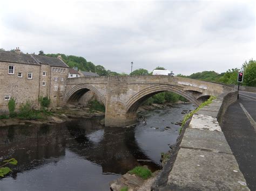
<svg viewBox="0 0 256 191">
<path fill-rule="evenodd" d="M 30 54 L 17 54 L 10 51 L 0 51 L 0 61 L 39 65 Z"/>
</svg>

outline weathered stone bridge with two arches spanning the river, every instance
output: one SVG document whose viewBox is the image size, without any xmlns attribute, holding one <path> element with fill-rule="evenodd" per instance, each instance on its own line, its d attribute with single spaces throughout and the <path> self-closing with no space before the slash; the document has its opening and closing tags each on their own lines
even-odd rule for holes
<svg viewBox="0 0 256 191">
<path fill-rule="evenodd" d="M 212 95 L 221 96 L 232 89 L 211 82 L 163 75 L 76 77 L 66 81 L 65 102 L 76 103 L 91 90 L 105 105 L 105 126 L 124 126 L 135 123 L 139 105 L 160 92 L 172 91 L 199 105 Z"/>
</svg>

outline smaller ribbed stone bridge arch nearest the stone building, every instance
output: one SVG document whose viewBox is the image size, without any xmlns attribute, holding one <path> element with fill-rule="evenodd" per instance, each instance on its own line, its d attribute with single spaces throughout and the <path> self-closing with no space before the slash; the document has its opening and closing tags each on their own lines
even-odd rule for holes
<svg viewBox="0 0 256 191">
<path fill-rule="evenodd" d="M 102 103 L 106 107 L 106 100 L 104 95 L 102 95 L 97 88 L 93 87 L 90 84 L 78 84 L 77 86 L 71 88 L 66 93 L 65 100 L 67 103 L 77 102 L 89 90 L 93 91 L 93 93 L 95 93 L 99 97 L 100 101 L 102 101 Z"/>
</svg>

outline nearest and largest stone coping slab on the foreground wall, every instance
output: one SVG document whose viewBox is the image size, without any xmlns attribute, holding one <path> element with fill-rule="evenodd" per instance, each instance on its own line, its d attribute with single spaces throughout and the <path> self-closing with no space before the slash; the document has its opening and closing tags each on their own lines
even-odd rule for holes
<svg viewBox="0 0 256 191">
<path fill-rule="evenodd" d="M 250 190 L 232 154 L 180 148 L 165 190 Z"/>
</svg>

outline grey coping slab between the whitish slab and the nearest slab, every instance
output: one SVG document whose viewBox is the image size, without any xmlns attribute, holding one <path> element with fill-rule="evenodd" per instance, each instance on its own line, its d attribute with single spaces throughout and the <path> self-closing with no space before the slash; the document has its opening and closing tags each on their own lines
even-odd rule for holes
<svg viewBox="0 0 256 191">
<path fill-rule="evenodd" d="M 233 154 L 223 132 L 186 129 L 180 147 Z"/>
</svg>

